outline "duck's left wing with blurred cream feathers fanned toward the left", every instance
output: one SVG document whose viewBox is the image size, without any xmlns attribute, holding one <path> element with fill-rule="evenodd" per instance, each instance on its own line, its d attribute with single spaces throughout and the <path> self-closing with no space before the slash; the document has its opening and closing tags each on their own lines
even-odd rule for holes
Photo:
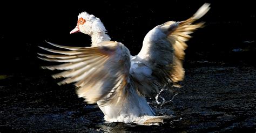
<svg viewBox="0 0 256 133">
<path fill-rule="evenodd" d="M 89 104 L 101 100 L 106 105 L 124 97 L 129 82 L 130 52 L 122 43 L 104 41 L 97 47 L 50 45 L 68 49 L 60 51 L 41 47 L 59 55 L 39 54 L 42 60 L 64 63 L 43 67 L 64 70 L 52 75 L 53 78 L 65 78 L 59 85 L 75 83 L 78 96 Z"/>
</svg>

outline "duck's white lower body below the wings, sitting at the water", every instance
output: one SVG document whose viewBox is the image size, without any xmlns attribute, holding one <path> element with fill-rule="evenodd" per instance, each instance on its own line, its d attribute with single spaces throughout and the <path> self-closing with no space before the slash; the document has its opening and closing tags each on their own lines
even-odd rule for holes
<svg viewBox="0 0 256 133">
<path fill-rule="evenodd" d="M 144 124 L 145 120 L 155 115 L 145 97 L 139 96 L 133 86 L 126 86 L 127 97 L 123 102 L 118 102 L 117 105 L 99 106 L 105 115 L 105 121 Z M 97 104 L 101 105 L 100 101 Z"/>
</svg>

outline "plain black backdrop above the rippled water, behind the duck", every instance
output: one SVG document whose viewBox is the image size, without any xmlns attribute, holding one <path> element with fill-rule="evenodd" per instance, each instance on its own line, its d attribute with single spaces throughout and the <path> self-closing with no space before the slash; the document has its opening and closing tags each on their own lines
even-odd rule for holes
<svg viewBox="0 0 256 133">
<path fill-rule="evenodd" d="M 186 61 L 215 61 L 254 64 L 255 10 L 247 1 L 72 1 L 9 2 L 2 4 L 0 30 L 0 74 L 38 73 L 45 62 L 37 58 L 45 41 L 68 46 L 90 46 L 90 36 L 69 32 L 77 16 L 86 11 L 100 18 L 114 41 L 138 54 L 144 36 L 166 21 L 192 16 L 205 2 L 211 10 L 201 18 L 206 27 L 188 41 Z M 235 48 L 245 49 L 233 52 Z"/>
</svg>

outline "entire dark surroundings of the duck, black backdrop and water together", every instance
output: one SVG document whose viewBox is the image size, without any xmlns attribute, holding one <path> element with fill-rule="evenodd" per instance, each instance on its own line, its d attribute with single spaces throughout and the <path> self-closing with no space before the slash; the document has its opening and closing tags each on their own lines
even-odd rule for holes
<svg viewBox="0 0 256 133">
<path fill-rule="evenodd" d="M 206 26 L 187 42 L 184 88 L 162 109 L 171 108 L 184 118 L 178 129 L 174 128 L 178 131 L 183 127 L 192 132 L 229 131 L 226 127 L 235 131 L 233 128 L 240 125 L 238 132 L 255 132 L 255 4 L 201 0 L 2 2 L 0 131 L 90 131 L 86 128 L 104 122 L 98 108 L 90 110 L 84 99 L 77 98 L 74 86 L 58 86 L 57 79 L 50 76 L 56 72 L 40 68 L 52 62 L 37 58 L 37 53 L 45 52 L 38 46 L 51 47 L 45 41 L 90 46 L 90 36 L 69 34 L 80 12 L 100 18 L 111 39 L 122 42 L 136 55 L 153 27 L 169 20 L 185 20 L 205 2 L 211 3 L 210 11 L 200 19 Z M 214 114 L 218 109 L 223 117 Z M 140 128 L 129 130 L 166 131 L 166 127 Z"/>
</svg>

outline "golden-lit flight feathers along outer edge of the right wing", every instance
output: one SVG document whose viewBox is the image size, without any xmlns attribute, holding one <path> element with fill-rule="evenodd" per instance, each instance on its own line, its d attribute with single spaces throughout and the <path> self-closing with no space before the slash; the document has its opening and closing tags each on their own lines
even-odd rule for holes
<svg viewBox="0 0 256 133">
<path fill-rule="evenodd" d="M 204 14 L 210 10 L 210 4 L 205 3 L 201 8 L 193 15 L 193 17 L 181 21 L 179 25 L 174 29 L 169 29 L 170 33 L 167 39 L 170 41 L 174 49 L 173 57 L 173 69 L 171 71 L 172 82 L 176 83 L 184 79 L 185 70 L 183 68 L 182 60 L 185 56 L 185 49 L 187 48 L 186 41 L 188 41 L 191 36 L 188 34 L 193 33 L 197 28 L 200 28 L 204 23 L 192 24 L 197 19 L 200 19 Z M 171 26 L 170 26 L 171 27 Z"/>
</svg>

